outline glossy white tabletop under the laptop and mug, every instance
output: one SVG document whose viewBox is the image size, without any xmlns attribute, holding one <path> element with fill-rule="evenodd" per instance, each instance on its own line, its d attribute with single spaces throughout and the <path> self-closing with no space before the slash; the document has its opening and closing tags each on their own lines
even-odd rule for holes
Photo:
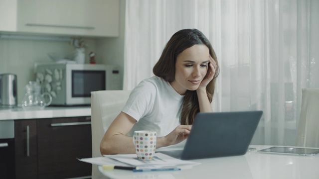
<svg viewBox="0 0 319 179">
<path fill-rule="evenodd" d="M 272 146 L 250 147 L 261 150 Z M 181 171 L 132 172 L 98 168 L 111 179 L 319 179 L 319 154 L 278 155 L 257 150 L 243 156 L 192 160 L 201 165 Z"/>
</svg>

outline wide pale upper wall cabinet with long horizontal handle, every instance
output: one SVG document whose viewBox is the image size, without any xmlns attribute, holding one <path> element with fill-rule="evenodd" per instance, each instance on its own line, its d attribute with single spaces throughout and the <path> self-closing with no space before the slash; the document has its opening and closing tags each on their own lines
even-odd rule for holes
<svg viewBox="0 0 319 179">
<path fill-rule="evenodd" d="M 17 0 L 16 32 L 119 36 L 119 0 Z"/>
</svg>

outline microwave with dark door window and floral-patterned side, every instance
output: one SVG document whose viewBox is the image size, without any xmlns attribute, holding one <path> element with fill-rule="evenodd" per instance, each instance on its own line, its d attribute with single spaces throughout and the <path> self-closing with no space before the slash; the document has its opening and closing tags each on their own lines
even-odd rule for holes
<svg viewBox="0 0 319 179">
<path fill-rule="evenodd" d="M 35 64 L 41 92 L 49 92 L 51 105 L 90 105 L 91 91 L 120 90 L 119 67 L 100 64 Z"/>
</svg>

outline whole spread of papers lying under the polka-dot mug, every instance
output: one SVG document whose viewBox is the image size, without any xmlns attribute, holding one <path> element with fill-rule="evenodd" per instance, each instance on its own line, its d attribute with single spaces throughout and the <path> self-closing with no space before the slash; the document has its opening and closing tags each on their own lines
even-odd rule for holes
<svg viewBox="0 0 319 179">
<path fill-rule="evenodd" d="M 79 159 L 95 165 L 114 165 L 114 166 L 134 166 L 139 168 L 164 168 L 172 166 L 188 166 L 199 165 L 198 162 L 183 161 L 162 153 L 155 153 L 154 159 L 151 161 L 143 161 L 137 159 L 136 154 L 118 154 L 104 155 L 104 157 Z M 187 168 L 188 168 L 187 167 Z"/>
</svg>

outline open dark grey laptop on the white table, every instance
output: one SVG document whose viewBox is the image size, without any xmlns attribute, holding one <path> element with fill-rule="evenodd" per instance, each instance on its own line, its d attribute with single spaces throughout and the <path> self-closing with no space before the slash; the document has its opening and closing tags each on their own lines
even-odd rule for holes
<svg viewBox="0 0 319 179">
<path fill-rule="evenodd" d="M 181 159 L 204 159 L 246 154 L 263 111 L 200 112 L 183 150 L 160 151 Z"/>
</svg>

